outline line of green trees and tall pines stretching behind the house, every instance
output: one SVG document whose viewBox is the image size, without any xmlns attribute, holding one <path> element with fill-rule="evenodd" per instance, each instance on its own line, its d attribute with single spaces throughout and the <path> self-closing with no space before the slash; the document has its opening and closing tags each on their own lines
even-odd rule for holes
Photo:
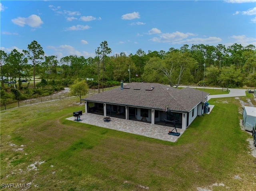
<svg viewBox="0 0 256 191">
<path fill-rule="evenodd" d="M 107 41 L 95 49 L 95 57 L 69 55 L 46 56 L 41 45 L 32 41 L 22 53 L 16 49 L 7 54 L 1 50 L 1 85 L 4 77 L 14 81 L 35 76 L 44 79 L 84 79 L 104 89 L 111 82 L 154 82 L 173 85 L 198 84 L 221 87 L 256 87 L 256 48 L 234 43 L 225 45 L 183 45 L 168 51 L 143 51 L 110 55 Z M 205 78 L 204 78 L 205 76 Z M 92 79 L 94 79 L 92 81 Z"/>
</svg>

